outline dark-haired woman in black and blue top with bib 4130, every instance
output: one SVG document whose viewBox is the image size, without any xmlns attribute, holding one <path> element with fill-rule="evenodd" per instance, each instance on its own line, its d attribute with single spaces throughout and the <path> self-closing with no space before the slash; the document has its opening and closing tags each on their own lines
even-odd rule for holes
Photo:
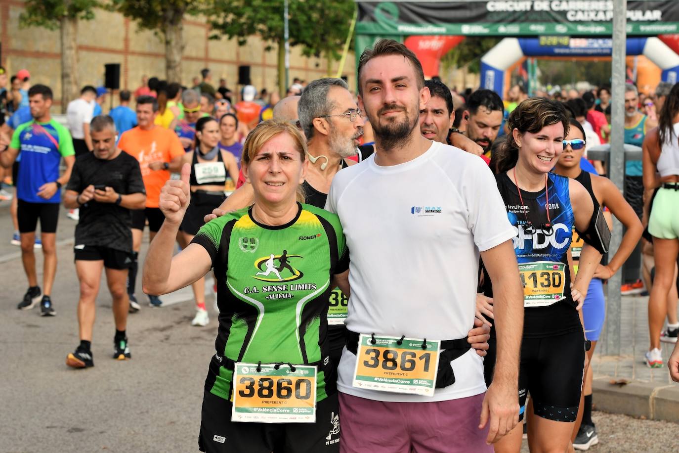
<svg viewBox="0 0 679 453">
<path fill-rule="evenodd" d="M 560 103 L 529 98 L 511 113 L 508 124 L 511 132 L 502 149 L 496 180 L 516 229 L 514 250 L 524 284 L 519 414 L 526 412 L 530 393 L 531 450 L 566 451 L 585 367 L 579 310 L 601 259 L 596 249 L 585 245 L 579 272 L 572 281 L 568 250 L 573 227 L 587 230 L 596 211 L 580 183 L 549 173 L 564 150 L 568 133 L 568 118 Z M 491 291 L 485 288 L 486 295 Z M 493 346 L 491 343 L 491 350 Z M 493 356 L 491 352 L 487 358 L 487 381 L 492 379 Z M 496 452 L 519 452 L 520 448 L 521 424 L 495 444 Z"/>
</svg>

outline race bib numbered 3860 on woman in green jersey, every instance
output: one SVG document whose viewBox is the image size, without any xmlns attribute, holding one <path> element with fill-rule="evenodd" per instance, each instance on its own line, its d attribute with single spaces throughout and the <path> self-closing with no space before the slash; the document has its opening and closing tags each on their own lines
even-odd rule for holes
<svg viewBox="0 0 679 453">
<path fill-rule="evenodd" d="M 236 363 L 234 422 L 316 422 L 316 367 L 289 363 Z"/>
</svg>

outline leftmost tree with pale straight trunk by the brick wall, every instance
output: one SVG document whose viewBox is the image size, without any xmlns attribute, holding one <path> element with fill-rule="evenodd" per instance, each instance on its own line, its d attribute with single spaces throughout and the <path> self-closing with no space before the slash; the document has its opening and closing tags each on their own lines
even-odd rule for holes
<svg viewBox="0 0 679 453">
<path fill-rule="evenodd" d="M 41 26 L 61 34 L 61 110 L 78 96 L 76 43 L 78 20 L 92 20 L 97 0 L 26 0 L 22 26 Z"/>
</svg>

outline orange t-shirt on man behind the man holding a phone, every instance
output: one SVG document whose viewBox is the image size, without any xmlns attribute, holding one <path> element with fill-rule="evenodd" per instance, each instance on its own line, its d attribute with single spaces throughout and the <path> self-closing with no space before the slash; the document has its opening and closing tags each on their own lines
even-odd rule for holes
<svg viewBox="0 0 679 453">
<path fill-rule="evenodd" d="M 151 170 L 151 162 L 168 162 L 184 155 L 184 148 L 174 130 L 155 126 L 143 130 L 136 126 L 122 134 L 118 147 L 139 160 L 141 177 L 146 187 L 146 207 L 157 208 L 160 189 L 170 179 L 168 170 Z"/>
</svg>

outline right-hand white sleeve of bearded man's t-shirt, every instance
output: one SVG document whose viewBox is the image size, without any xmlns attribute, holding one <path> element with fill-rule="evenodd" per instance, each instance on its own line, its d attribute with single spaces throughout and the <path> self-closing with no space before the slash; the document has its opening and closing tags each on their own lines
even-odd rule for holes
<svg viewBox="0 0 679 453">
<path fill-rule="evenodd" d="M 467 226 L 479 251 L 513 238 L 514 228 L 507 219 L 507 209 L 490 168 L 477 160 L 463 175 L 460 193 L 467 208 Z"/>
</svg>

